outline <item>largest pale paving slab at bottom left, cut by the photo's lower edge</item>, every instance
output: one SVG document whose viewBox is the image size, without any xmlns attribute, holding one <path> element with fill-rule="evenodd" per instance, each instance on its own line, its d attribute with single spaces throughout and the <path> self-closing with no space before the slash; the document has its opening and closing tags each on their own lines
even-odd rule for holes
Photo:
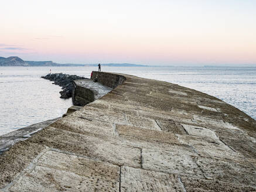
<svg viewBox="0 0 256 192">
<path fill-rule="evenodd" d="M 49 150 L 9 191 L 119 191 L 120 167 Z"/>
</svg>

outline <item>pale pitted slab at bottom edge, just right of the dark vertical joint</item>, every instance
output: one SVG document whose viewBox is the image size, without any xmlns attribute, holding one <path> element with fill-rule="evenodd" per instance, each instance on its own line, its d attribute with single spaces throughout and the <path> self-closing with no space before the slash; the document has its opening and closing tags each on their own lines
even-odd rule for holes
<svg viewBox="0 0 256 192">
<path fill-rule="evenodd" d="M 121 167 L 121 192 L 170 191 L 183 192 L 178 176 L 132 167 Z"/>
</svg>

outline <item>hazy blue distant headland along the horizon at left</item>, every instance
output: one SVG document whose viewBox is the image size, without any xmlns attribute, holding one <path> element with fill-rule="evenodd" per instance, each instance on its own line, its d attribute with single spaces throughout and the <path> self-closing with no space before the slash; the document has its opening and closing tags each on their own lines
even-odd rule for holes
<svg viewBox="0 0 256 192">
<path fill-rule="evenodd" d="M 67 66 L 97 66 L 96 64 L 60 64 L 54 63 L 53 61 L 24 61 L 19 57 L 12 56 L 12 57 L 0 57 L 0 66 L 23 66 L 23 67 L 43 67 L 43 66 L 54 66 L 54 67 L 67 67 Z M 107 63 L 101 64 L 102 66 L 111 66 L 111 67 L 149 67 L 146 65 L 141 64 L 131 64 L 131 63 Z"/>
</svg>

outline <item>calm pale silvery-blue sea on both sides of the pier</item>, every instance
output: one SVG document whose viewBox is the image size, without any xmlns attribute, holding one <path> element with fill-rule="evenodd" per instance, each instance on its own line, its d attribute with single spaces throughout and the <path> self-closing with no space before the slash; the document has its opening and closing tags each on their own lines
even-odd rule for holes
<svg viewBox="0 0 256 192">
<path fill-rule="evenodd" d="M 96 67 L 0 67 L 0 135 L 62 116 L 71 106 L 49 73 L 90 77 Z M 103 71 L 168 81 L 220 98 L 256 119 L 256 67 L 104 67 Z"/>
</svg>

